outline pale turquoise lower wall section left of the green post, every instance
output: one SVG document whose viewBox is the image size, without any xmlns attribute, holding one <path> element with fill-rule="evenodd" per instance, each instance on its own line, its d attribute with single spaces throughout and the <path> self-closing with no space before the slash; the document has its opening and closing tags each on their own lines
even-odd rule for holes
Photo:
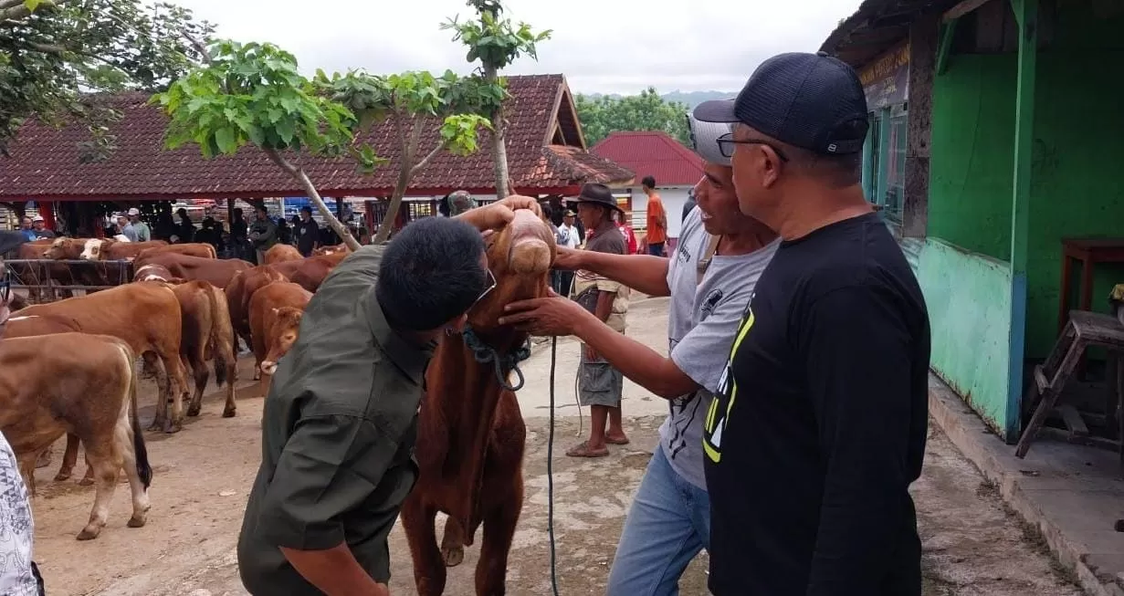
<svg viewBox="0 0 1124 596">
<path fill-rule="evenodd" d="M 1010 265 L 930 237 L 917 281 L 932 327 L 931 367 L 1003 436 L 1018 414 L 1007 412 Z"/>
</svg>

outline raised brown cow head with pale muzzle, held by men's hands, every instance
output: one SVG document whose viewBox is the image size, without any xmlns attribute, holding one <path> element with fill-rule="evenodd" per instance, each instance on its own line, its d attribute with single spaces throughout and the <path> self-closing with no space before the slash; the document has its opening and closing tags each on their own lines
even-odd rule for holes
<svg viewBox="0 0 1124 596">
<path fill-rule="evenodd" d="M 516 210 L 515 219 L 490 233 L 484 244 L 496 288 L 469 310 L 469 324 L 477 329 L 496 327 L 509 302 L 547 296 L 555 254 L 554 233 L 531 209 Z"/>
</svg>

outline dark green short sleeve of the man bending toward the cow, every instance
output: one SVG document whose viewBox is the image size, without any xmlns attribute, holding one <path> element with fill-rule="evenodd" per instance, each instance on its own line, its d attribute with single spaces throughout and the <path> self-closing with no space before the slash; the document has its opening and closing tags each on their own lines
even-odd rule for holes
<svg viewBox="0 0 1124 596">
<path fill-rule="evenodd" d="M 398 450 L 359 416 L 326 415 L 297 423 L 263 499 L 261 527 L 278 547 L 326 550 L 344 541 L 341 516 L 374 491 Z"/>
</svg>

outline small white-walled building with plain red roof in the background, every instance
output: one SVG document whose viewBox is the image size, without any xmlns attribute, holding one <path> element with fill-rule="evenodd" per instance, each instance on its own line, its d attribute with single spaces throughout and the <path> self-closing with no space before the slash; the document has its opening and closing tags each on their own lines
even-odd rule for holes
<svg viewBox="0 0 1124 596">
<path fill-rule="evenodd" d="M 632 170 L 636 177 L 628 183 L 615 184 L 628 195 L 633 227 L 647 226 L 647 195 L 641 190 L 646 175 L 655 179 L 655 188 L 668 213 L 668 236 L 671 244 L 679 238 L 681 214 L 690 190 L 703 178 L 703 159 L 667 133 L 660 130 L 611 133 L 590 150 L 599 157 Z"/>
</svg>

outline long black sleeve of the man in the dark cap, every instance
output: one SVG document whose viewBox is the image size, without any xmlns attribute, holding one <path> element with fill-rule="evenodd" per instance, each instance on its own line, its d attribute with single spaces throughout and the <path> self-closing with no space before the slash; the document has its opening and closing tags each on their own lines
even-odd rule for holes
<svg viewBox="0 0 1124 596">
<path fill-rule="evenodd" d="M 825 471 L 807 594 L 877 594 L 907 515 L 909 329 L 873 282 L 807 313 L 798 337 Z"/>
</svg>

